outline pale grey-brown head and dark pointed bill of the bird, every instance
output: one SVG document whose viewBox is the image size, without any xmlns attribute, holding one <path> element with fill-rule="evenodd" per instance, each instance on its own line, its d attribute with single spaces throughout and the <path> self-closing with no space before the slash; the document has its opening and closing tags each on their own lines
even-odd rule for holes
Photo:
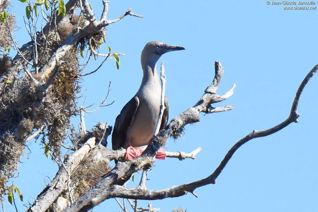
<svg viewBox="0 0 318 212">
<path fill-rule="evenodd" d="M 176 50 L 184 50 L 184 48 L 181 46 L 170 46 L 160 41 L 151 41 L 142 50 L 141 63 L 155 65 L 162 54 Z"/>
</svg>

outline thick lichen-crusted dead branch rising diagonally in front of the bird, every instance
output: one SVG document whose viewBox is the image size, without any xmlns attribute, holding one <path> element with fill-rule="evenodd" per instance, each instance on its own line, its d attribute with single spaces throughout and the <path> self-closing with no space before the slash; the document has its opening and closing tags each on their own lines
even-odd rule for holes
<svg viewBox="0 0 318 212">
<path fill-rule="evenodd" d="M 126 180 L 126 176 L 130 176 L 136 171 L 151 166 L 154 162 L 154 157 L 157 154 L 157 151 L 165 144 L 166 140 L 171 135 L 176 135 L 178 130 L 182 129 L 186 124 L 199 121 L 199 113 L 207 111 L 207 108 L 212 103 L 222 101 L 221 99 L 226 99 L 223 95 L 220 96 L 216 94 L 223 72 L 224 69 L 221 64 L 219 62 L 215 62 L 215 77 L 211 86 L 209 86 L 212 87 L 212 90 L 215 92 L 211 92 L 211 89 L 209 91 L 205 91 L 201 99 L 193 107 L 190 107 L 176 118 L 172 119 L 170 123 L 150 141 L 148 147 L 141 156 L 132 161 L 118 162 L 115 168 L 104 176 L 104 179 L 98 182 L 93 188 L 89 189 L 85 195 L 81 196 L 70 207 L 66 208 L 65 211 L 87 211 L 93 208 L 105 199 L 110 198 L 109 195 L 112 192 L 109 192 L 109 188 L 111 186 Z M 227 92 L 224 95 L 228 97 L 232 94 L 231 92 Z M 138 198 L 132 197 L 129 199 Z"/>
</svg>

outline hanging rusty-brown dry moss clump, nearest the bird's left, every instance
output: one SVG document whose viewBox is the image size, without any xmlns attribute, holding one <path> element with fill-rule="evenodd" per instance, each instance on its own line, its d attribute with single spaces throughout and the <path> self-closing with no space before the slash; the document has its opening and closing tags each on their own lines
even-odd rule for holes
<svg viewBox="0 0 318 212">
<path fill-rule="evenodd" d="M 43 118 L 47 117 L 49 120 L 39 121 L 49 123 L 46 136 L 53 157 L 60 154 L 60 147 L 70 126 L 70 118 L 77 113 L 76 100 L 81 87 L 78 81 L 79 63 L 76 51 L 72 49 L 62 59 L 64 62 L 42 106 L 43 113 L 46 114 Z"/>
</svg>

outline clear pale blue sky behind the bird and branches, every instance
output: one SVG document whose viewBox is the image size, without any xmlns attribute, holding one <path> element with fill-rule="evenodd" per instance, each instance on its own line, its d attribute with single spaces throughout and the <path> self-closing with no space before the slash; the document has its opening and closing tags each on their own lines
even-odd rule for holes
<svg viewBox="0 0 318 212">
<path fill-rule="evenodd" d="M 100 17 L 101 1 L 90 3 Z M 22 22 L 25 4 L 17 0 L 11 0 L 11 4 L 20 26 L 15 38 L 21 46 L 29 41 Z M 236 84 L 233 96 L 216 104 L 234 104 L 232 111 L 201 114 L 201 122 L 187 126 L 182 140 L 167 142 L 166 150 L 171 152 L 191 152 L 201 147 L 197 159 L 156 161 L 146 182 L 149 189 L 168 188 L 210 175 L 227 151 L 246 134 L 285 120 L 298 86 L 318 63 L 317 10 L 283 10 L 283 5 L 267 5 L 265 0 L 111 1 L 108 18 L 115 19 L 129 7 L 145 17 L 125 17 L 111 24 L 101 50 L 107 53 L 110 46 L 112 51 L 124 53 L 120 69 L 117 71 L 115 62 L 110 60 L 83 80 L 86 105 L 98 105 L 105 98 L 109 81 L 112 90 L 108 102 L 115 100 L 111 106 L 86 114 L 86 128 L 99 121 L 114 125 L 121 108 L 139 88 L 140 54 L 152 40 L 185 48 L 164 54 L 158 61 L 158 66 L 160 62 L 165 65 L 170 119 L 202 96 L 214 77 L 215 60 L 225 69 L 218 94 Z M 95 70 L 102 60 L 92 61 L 85 72 Z M 317 211 L 317 83 L 314 76 L 301 96 L 299 123 L 244 144 L 216 184 L 195 190 L 198 198 L 187 194 L 140 201 L 140 206 L 152 202 L 161 211 L 181 206 L 189 212 Z M 79 99 L 79 104 L 83 100 Z M 72 121 L 77 125 L 79 118 Z M 111 143 L 110 138 L 108 141 Z M 35 198 L 45 186 L 44 175 L 52 179 L 57 171 L 57 165 L 46 159 L 39 142 L 32 141 L 29 148 L 29 159 L 22 158 L 20 176 L 14 179 L 24 195 L 23 203 L 33 202 L 31 197 Z M 128 186 L 137 184 L 130 182 Z M 26 209 L 23 203 L 17 202 L 19 211 Z M 5 210 L 14 211 L 14 207 L 7 204 Z M 112 199 L 93 209 L 119 210 Z"/>
</svg>

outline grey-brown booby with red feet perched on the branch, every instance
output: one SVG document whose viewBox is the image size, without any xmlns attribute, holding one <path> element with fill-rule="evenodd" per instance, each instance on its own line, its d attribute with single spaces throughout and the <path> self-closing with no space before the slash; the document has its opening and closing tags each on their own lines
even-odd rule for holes
<svg viewBox="0 0 318 212">
<path fill-rule="evenodd" d="M 143 71 L 142 83 L 135 96 L 122 108 L 117 116 L 112 134 L 113 150 L 127 149 L 126 160 L 132 160 L 142 154 L 142 146 L 148 145 L 153 138 L 158 122 L 161 105 L 161 85 L 156 63 L 162 54 L 169 51 L 184 50 L 180 46 L 170 46 L 159 41 L 145 45 L 141 53 Z M 169 106 L 165 97 L 160 129 L 168 121 Z M 164 159 L 165 151 L 160 149 L 156 158 Z"/>
</svg>

